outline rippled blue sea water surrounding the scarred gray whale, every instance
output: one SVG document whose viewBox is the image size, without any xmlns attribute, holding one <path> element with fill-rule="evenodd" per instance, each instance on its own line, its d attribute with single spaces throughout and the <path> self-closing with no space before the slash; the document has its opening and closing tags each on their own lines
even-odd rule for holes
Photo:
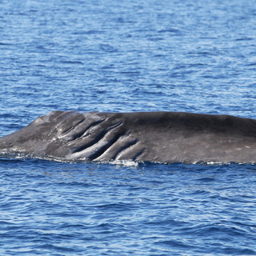
<svg viewBox="0 0 256 256">
<path fill-rule="evenodd" d="M 0 1 L 0 136 L 51 110 L 256 118 L 256 2 Z M 0 255 L 256 255 L 256 167 L 0 158 Z"/>
</svg>

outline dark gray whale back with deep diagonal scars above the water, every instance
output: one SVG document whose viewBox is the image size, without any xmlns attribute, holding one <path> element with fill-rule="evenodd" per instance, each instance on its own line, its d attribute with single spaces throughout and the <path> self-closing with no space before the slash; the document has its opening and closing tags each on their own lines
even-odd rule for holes
<svg viewBox="0 0 256 256">
<path fill-rule="evenodd" d="M 182 112 L 53 111 L 0 138 L 1 154 L 58 160 L 256 161 L 256 120 Z"/>
</svg>

